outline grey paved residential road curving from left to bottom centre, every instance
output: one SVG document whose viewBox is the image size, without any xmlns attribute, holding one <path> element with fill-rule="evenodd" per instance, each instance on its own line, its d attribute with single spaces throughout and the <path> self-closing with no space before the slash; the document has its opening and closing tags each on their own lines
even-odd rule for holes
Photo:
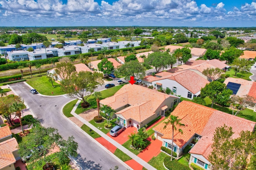
<svg viewBox="0 0 256 170">
<path fill-rule="evenodd" d="M 60 135 L 67 139 L 74 136 L 78 143 L 78 162 L 82 169 L 108 170 L 118 165 L 120 170 L 126 167 L 118 162 L 111 154 L 103 150 L 94 140 L 84 135 L 77 127 L 68 121 L 62 114 L 61 108 L 72 99 L 66 96 L 42 96 L 31 94 L 30 87 L 24 82 L 11 84 L 10 87 L 26 102 L 34 115 L 45 127 L 57 128 Z M 99 90 L 104 87 L 99 87 Z"/>
</svg>

